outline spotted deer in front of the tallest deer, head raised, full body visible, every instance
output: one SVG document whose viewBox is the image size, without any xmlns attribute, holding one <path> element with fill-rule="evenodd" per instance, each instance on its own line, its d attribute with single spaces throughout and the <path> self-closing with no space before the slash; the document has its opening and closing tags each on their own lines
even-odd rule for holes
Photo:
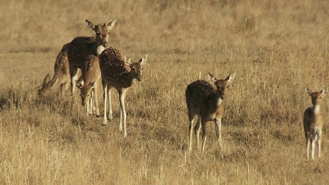
<svg viewBox="0 0 329 185">
<path fill-rule="evenodd" d="M 111 47 L 105 49 L 99 56 L 102 85 L 104 90 L 103 125 L 107 124 L 107 119 L 106 119 L 107 97 L 108 97 L 108 106 L 109 106 L 108 118 L 112 119 L 111 90 L 114 87 L 117 89 L 119 93 L 119 101 L 120 101 L 119 130 L 122 131 L 122 117 L 123 117 L 124 137 L 126 137 L 127 135 L 126 126 L 125 126 L 126 113 L 124 108 L 124 97 L 125 97 L 126 89 L 132 86 L 132 83 L 135 79 L 137 79 L 138 81 L 141 81 L 143 79 L 142 65 L 146 63 L 147 58 L 148 58 L 148 54 L 145 54 L 144 57 L 139 60 L 139 62 L 131 62 L 130 59 L 127 59 L 126 57 L 123 58 L 119 50 Z"/>
</svg>

